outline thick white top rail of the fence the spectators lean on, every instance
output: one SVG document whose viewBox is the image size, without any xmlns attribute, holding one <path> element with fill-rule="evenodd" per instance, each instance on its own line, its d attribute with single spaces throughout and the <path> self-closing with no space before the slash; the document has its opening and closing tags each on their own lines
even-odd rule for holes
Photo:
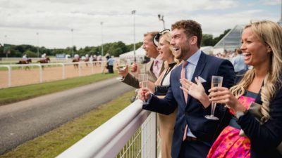
<svg viewBox="0 0 282 158">
<path fill-rule="evenodd" d="M 142 110 L 142 102 L 135 100 L 102 126 L 59 154 L 57 158 L 116 157 L 149 114 L 149 111 Z"/>
</svg>

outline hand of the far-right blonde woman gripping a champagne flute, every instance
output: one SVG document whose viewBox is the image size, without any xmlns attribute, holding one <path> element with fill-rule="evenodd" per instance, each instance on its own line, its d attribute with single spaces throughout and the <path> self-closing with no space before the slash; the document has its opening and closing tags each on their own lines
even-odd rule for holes
<svg viewBox="0 0 282 158">
<path fill-rule="evenodd" d="M 226 104 L 235 112 L 245 112 L 246 108 L 238 101 L 235 96 L 225 87 L 214 87 L 209 89 L 210 101 L 219 104 Z"/>
</svg>

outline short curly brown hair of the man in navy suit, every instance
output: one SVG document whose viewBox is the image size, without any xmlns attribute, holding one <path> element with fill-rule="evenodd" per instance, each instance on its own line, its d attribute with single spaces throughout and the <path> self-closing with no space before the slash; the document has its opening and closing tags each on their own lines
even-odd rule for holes
<svg viewBox="0 0 282 158">
<path fill-rule="evenodd" d="M 173 29 L 184 29 L 187 37 L 197 37 L 197 46 L 200 48 L 202 41 L 202 28 L 198 22 L 194 20 L 180 20 L 171 25 L 171 30 Z"/>
</svg>

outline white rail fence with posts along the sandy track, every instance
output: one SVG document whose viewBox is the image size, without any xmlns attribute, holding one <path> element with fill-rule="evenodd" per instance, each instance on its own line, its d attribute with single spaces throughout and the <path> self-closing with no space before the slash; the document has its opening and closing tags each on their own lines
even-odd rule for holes
<svg viewBox="0 0 282 158">
<path fill-rule="evenodd" d="M 81 72 L 81 65 L 82 64 L 89 64 L 90 65 L 90 69 L 91 69 L 91 74 L 94 73 L 94 68 L 93 66 L 94 65 L 99 65 L 99 67 L 101 67 L 101 72 L 104 70 L 104 67 L 106 65 L 106 61 L 95 61 L 95 62 L 56 62 L 56 63 L 45 63 L 45 64 L 40 64 L 40 63 L 32 63 L 32 64 L 11 64 L 11 65 L 0 65 L 0 67 L 6 67 L 7 70 L 8 70 L 8 73 L 7 73 L 7 78 L 5 81 L 7 84 L 7 86 L 1 86 L 0 85 L 0 88 L 3 88 L 3 87 L 11 87 L 11 86 L 14 86 L 13 85 L 13 81 L 12 81 L 12 72 L 13 72 L 13 67 L 39 67 L 38 71 L 39 71 L 39 74 L 38 74 L 38 82 L 37 83 L 42 83 L 43 82 L 43 67 L 47 67 L 47 66 L 60 66 L 62 67 L 62 70 L 61 70 L 61 79 L 66 79 L 66 65 L 75 65 L 75 64 L 78 64 L 78 76 L 82 76 L 82 72 Z M 27 74 L 28 72 L 26 72 Z M 6 74 L 5 74 L 6 75 Z M 33 76 L 33 77 L 36 77 L 36 76 Z M 3 84 L 3 81 L 1 81 L 2 84 Z M 36 84 L 33 83 L 33 84 Z M 25 85 L 25 84 L 24 84 Z"/>
</svg>

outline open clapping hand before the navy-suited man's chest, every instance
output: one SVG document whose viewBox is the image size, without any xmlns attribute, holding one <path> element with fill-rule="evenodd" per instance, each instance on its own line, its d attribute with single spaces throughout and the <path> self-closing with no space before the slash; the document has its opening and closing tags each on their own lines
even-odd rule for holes
<svg viewBox="0 0 282 158">
<path fill-rule="evenodd" d="M 204 91 L 204 87 L 202 86 L 200 79 L 195 77 L 195 81 L 196 84 L 192 81 L 188 81 L 188 79 L 180 79 L 180 84 L 182 85 L 180 88 L 193 98 L 199 100 L 204 107 L 208 107 L 210 104 L 209 97 Z"/>
</svg>

